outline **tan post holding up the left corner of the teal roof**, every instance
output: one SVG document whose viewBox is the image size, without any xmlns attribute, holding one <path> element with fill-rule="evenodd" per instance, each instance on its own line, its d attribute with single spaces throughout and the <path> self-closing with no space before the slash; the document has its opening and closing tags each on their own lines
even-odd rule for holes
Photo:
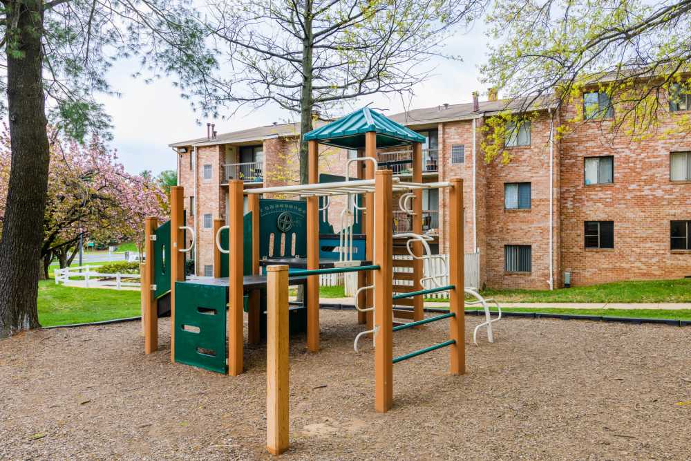
<svg viewBox="0 0 691 461">
<path fill-rule="evenodd" d="M 319 182 L 319 143 L 308 144 L 307 173 L 310 184 Z M 307 269 L 319 269 L 319 198 L 307 198 Z M 307 277 L 307 350 L 319 350 L 319 276 Z"/>
</svg>

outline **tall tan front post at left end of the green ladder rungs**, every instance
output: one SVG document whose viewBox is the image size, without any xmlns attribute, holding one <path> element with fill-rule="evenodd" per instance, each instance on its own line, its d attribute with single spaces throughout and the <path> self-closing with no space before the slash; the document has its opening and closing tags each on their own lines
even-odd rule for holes
<svg viewBox="0 0 691 461">
<path fill-rule="evenodd" d="M 393 176 L 388 169 L 375 174 L 375 410 L 386 413 L 393 404 Z"/>
</svg>

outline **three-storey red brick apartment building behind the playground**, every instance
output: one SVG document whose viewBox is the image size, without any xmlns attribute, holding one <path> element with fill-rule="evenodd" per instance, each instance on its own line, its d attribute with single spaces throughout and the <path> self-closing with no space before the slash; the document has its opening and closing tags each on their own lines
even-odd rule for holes
<svg viewBox="0 0 691 461">
<path fill-rule="evenodd" d="M 464 179 L 466 253 L 480 252 L 480 285 L 492 288 L 559 288 L 571 285 L 691 276 L 691 140 L 665 135 L 634 141 L 609 138 L 611 107 L 605 95 L 587 93 L 587 120 L 571 124 L 576 104 L 544 104 L 507 142 L 511 162 L 486 163 L 480 144 L 486 120 L 507 108 L 489 100 L 444 104 L 390 115 L 422 133 L 425 181 Z M 691 96 L 688 97 L 691 104 Z M 670 104 L 660 132 L 687 114 L 686 101 Z M 210 274 L 212 220 L 227 216 L 229 178 L 247 187 L 283 185 L 297 176 L 296 124 L 255 129 L 171 144 L 178 152 L 178 184 L 184 186 L 190 225 L 198 229 L 197 273 Z M 343 175 L 356 153 L 325 149 L 320 171 Z M 410 151 L 381 151 L 401 180 Z M 351 171 L 351 174 L 354 170 Z M 448 198 L 443 189 L 423 197 L 424 229 L 435 249 L 448 248 Z M 330 210 L 337 225 L 338 207 Z M 406 230 L 395 214 L 395 228 Z"/>
</svg>

